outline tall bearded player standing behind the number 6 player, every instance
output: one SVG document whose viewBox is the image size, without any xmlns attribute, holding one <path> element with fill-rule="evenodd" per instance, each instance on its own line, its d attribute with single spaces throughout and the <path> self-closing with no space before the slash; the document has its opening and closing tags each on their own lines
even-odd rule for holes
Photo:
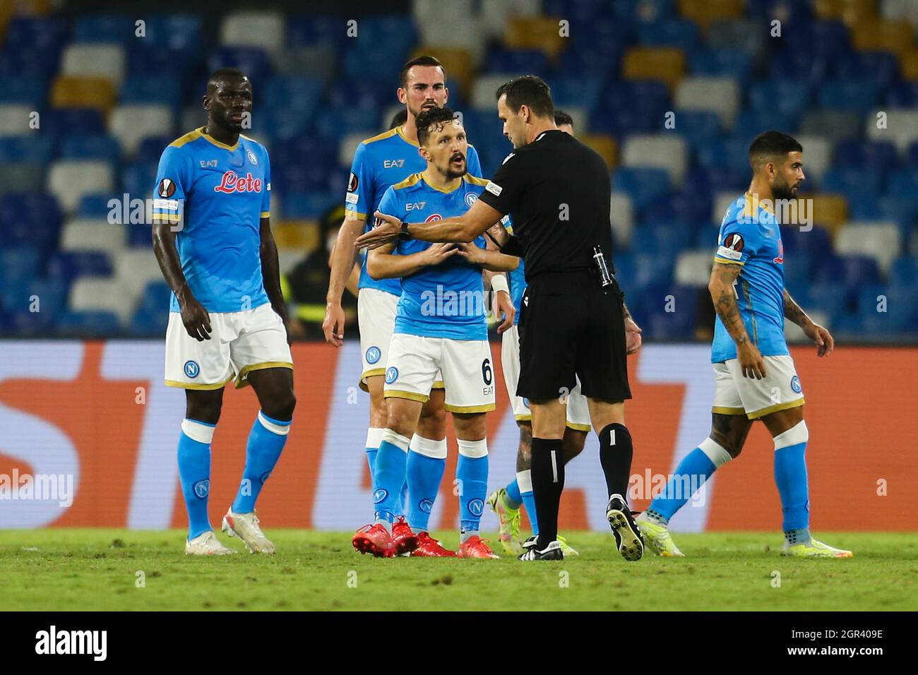
<svg viewBox="0 0 918 675">
<path fill-rule="evenodd" d="M 344 336 L 341 295 L 356 259 L 354 242 L 372 226 L 372 219 L 367 216 L 378 208 L 386 189 L 426 168 L 427 163 L 420 155 L 415 120 L 423 110 L 445 106 L 449 98 L 446 73 L 441 63 L 431 56 L 420 56 L 407 62 L 399 75 L 399 84 L 398 100 L 405 105 L 407 111 L 404 125 L 363 141 L 354 153 L 350 181 L 344 197 L 344 222 L 331 253 L 329 291 L 325 321 L 322 323 L 326 341 L 338 347 L 343 344 Z M 467 151 L 466 163 L 469 174 L 481 175 L 478 153 L 471 146 Z M 361 265 L 358 285 L 360 292 L 357 297 L 357 321 L 363 359 L 360 387 L 370 394 L 370 428 L 364 448 L 372 475 L 376 451 L 386 426 L 383 376 L 386 373 L 389 340 L 401 287 L 397 278 L 374 279 L 369 276 L 365 256 L 362 256 Z M 512 321 L 509 296 L 503 294 L 498 298 L 497 307 L 498 311 L 503 311 Z M 421 412 L 412 446 L 414 444 L 432 444 L 445 452 L 446 415 L 439 383 Z M 408 524 L 401 520 L 396 523 L 395 536 L 399 542 L 405 540 L 402 547 L 406 549 L 416 539 L 410 533 Z"/>
</svg>

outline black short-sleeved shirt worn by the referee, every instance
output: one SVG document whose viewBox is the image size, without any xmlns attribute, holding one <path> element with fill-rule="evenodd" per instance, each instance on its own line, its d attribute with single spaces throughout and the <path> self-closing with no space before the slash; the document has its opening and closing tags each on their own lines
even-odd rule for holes
<svg viewBox="0 0 918 675">
<path fill-rule="evenodd" d="M 479 197 L 513 219 L 526 283 L 540 276 L 592 274 L 593 247 L 612 267 L 609 169 L 599 154 L 564 131 L 543 131 L 511 152 Z"/>
</svg>

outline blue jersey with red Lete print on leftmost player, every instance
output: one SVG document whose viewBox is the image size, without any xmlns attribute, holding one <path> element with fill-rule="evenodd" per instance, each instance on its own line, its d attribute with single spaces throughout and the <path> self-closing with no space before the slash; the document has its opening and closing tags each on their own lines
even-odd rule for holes
<svg viewBox="0 0 918 675">
<path fill-rule="evenodd" d="M 271 215 L 271 164 L 260 143 L 215 141 L 204 128 L 162 152 L 153 188 L 153 222 L 184 225 L 175 234 L 182 273 L 213 312 L 255 309 L 264 292 L 261 219 Z M 179 311 L 173 294 L 170 311 Z"/>
</svg>

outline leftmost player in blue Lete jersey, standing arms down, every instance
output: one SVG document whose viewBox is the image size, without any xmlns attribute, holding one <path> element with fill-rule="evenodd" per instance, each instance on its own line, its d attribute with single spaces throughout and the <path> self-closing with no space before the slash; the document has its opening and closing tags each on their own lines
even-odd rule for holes
<svg viewBox="0 0 918 675">
<path fill-rule="evenodd" d="M 210 443 L 223 387 L 235 379 L 237 388 L 252 385 L 262 408 L 223 531 L 252 553 L 273 554 L 255 501 L 284 449 L 296 399 L 271 234 L 271 165 L 264 147 L 240 133 L 252 111 L 248 77 L 218 70 L 203 103 L 207 125 L 162 152 L 153 200 L 153 251 L 173 291 L 165 383 L 184 388 L 186 400 L 178 442 L 185 553 L 235 553 L 219 543 L 207 516 Z"/>
</svg>

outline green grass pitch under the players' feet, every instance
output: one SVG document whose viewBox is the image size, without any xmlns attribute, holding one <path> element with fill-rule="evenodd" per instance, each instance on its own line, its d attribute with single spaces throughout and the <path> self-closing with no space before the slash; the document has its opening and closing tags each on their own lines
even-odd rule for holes
<svg viewBox="0 0 918 675">
<path fill-rule="evenodd" d="M 581 555 L 552 563 L 384 560 L 356 553 L 350 533 L 270 529 L 276 557 L 219 533 L 241 555 L 185 557 L 184 534 L 2 531 L 0 610 L 918 609 L 918 534 L 819 533 L 855 552 L 846 560 L 779 557 L 778 533 L 677 534 L 687 557 L 634 563 L 611 534 L 565 533 Z"/>
</svg>

